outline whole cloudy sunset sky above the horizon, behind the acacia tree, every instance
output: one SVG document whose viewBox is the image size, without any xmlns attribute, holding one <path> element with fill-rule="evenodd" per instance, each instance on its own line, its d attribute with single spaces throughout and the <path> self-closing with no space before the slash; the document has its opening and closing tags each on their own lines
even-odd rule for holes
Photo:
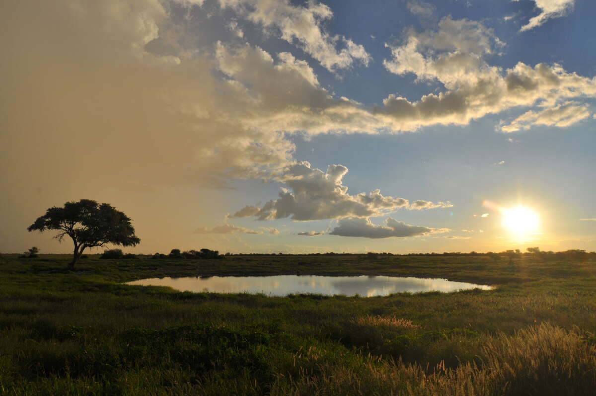
<svg viewBox="0 0 596 396">
<path fill-rule="evenodd" d="M 3 2 L 0 252 L 71 252 L 27 227 L 79 199 L 131 217 L 135 253 L 596 250 L 594 15 Z"/>
</svg>

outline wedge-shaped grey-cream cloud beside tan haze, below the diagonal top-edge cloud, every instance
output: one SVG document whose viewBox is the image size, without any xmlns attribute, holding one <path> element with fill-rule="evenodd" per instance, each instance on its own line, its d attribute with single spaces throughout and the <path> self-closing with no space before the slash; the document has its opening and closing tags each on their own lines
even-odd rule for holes
<svg viewBox="0 0 596 396">
<path fill-rule="evenodd" d="M 218 42 L 215 57 L 219 70 L 228 77 L 226 88 L 244 104 L 234 119 L 251 129 L 271 135 L 278 131 L 315 135 L 330 131 L 377 133 L 387 126 L 361 104 L 331 97 L 309 64 L 289 52 L 274 58 L 260 47 Z"/>
</svg>

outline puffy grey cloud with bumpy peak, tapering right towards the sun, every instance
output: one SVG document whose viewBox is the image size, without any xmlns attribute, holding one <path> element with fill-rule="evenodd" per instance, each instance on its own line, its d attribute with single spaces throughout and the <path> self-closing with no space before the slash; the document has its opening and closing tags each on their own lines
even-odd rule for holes
<svg viewBox="0 0 596 396">
<path fill-rule="evenodd" d="M 345 217 L 379 216 L 400 208 L 431 209 L 452 206 L 451 203 L 383 196 L 380 190 L 350 195 L 342 184 L 348 169 L 343 165 L 330 165 L 326 172 L 311 168 L 308 162 L 298 162 L 278 174 L 275 180 L 283 182 L 279 198 L 270 200 L 256 212 L 256 207 L 246 206 L 232 217 L 254 215 L 259 220 L 290 217 L 309 221 Z M 256 213 L 255 213 L 256 212 Z"/>
</svg>

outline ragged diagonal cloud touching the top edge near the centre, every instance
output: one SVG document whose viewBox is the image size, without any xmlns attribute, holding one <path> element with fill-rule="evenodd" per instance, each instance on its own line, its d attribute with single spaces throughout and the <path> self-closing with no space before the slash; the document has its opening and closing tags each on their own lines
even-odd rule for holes
<svg viewBox="0 0 596 396">
<path fill-rule="evenodd" d="M 351 67 L 355 61 L 368 66 L 371 56 L 364 46 L 339 35 L 330 35 L 323 29 L 333 12 L 325 4 L 309 1 L 294 6 L 289 0 L 219 0 L 224 8 L 232 8 L 238 17 L 262 26 L 268 33 L 296 44 L 334 72 Z M 336 49 L 337 47 L 342 49 Z"/>
</svg>

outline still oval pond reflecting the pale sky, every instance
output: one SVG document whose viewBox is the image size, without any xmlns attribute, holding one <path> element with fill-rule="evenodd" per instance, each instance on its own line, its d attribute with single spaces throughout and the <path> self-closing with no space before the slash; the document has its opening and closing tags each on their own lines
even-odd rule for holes
<svg viewBox="0 0 596 396">
<path fill-rule="evenodd" d="M 322 295 L 386 296 L 399 292 L 453 292 L 454 290 L 492 289 L 491 286 L 446 279 L 395 276 L 212 276 L 151 278 L 128 282 L 142 286 L 170 286 L 182 292 L 265 293 L 269 296 L 316 293 Z"/>
</svg>

